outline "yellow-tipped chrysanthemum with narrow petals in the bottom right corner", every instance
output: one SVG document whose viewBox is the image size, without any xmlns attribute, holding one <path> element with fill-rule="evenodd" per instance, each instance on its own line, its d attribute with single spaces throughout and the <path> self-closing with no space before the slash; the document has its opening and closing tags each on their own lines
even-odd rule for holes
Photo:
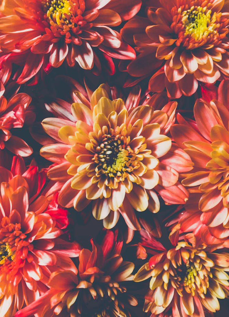
<svg viewBox="0 0 229 317">
<path fill-rule="evenodd" d="M 187 235 L 173 249 L 152 256 L 134 281 L 151 277 L 143 309 L 152 317 L 162 317 L 169 309 L 173 316 L 205 317 L 205 308 L 219 310 L 218 298 L 229 295 L 228 271 L 229 253 L 209 252 Z"/>
</svg>

